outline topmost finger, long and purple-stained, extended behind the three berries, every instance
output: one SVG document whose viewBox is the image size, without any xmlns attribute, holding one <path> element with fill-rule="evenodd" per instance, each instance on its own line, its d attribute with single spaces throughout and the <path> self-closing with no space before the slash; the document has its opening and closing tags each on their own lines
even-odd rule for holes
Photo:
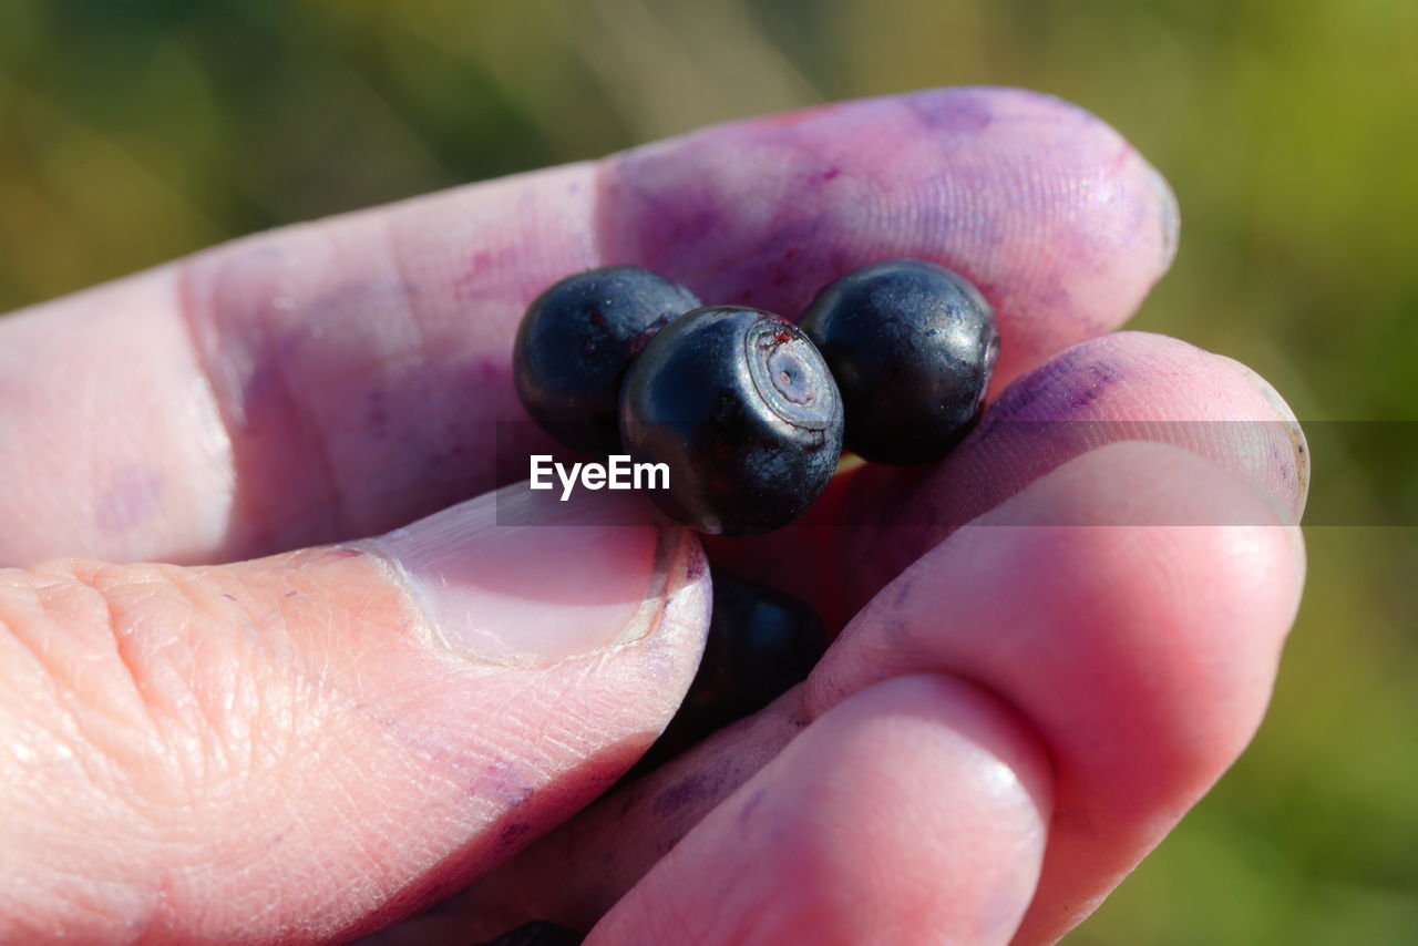
<svg viewBox="0 0 1418 946">
<path fill-rule="evenodd" d="M 708 129 L 244 240 L 0 323 L 0 562 L 223 560 L 369 535 L 526 477 L 495 424 L 526 304 L 640 262 L 795 315 L 891 255 L 976 281 L 1001 380 L 1126 319 L 1166 186 L 1058 99 L 951 89 Z M 14 495 L 14 494 L 11 494 Z"/>
</svg>

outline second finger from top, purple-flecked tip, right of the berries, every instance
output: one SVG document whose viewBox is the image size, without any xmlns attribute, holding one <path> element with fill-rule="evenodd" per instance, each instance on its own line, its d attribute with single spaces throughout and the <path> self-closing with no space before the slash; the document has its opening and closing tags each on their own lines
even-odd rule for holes
<svg viewBox="0 0 1418 946">
<path fill-rule="evenodd" d="M 1177 339 L 1117 332 L 1020 377 L 942 462 L 861 467 L 838 477 L 800 523 L 754 542 L 712 538 L 706 547 L 740 574 L 818 601 L 828 624 L 842 627 L 960 525 L 1071 458 L 1123 440 L 1184 447 L 1295 521 L 1305 509 L 1305 434 L 1265 379 Z"/>
</svg>

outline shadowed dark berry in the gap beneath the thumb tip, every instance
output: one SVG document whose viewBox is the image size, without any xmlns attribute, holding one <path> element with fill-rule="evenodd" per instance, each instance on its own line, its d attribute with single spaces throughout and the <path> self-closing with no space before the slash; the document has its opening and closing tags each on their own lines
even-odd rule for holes
<svg viewBox="0 0 1418 946">
<path fill-rule="evenodd" d="M 630 776 L 674 759 L 807 679 L 827 651 L 822 618 L 791 594 L 715 569 L 703 658 L 685 701 Z"/>
</svg>

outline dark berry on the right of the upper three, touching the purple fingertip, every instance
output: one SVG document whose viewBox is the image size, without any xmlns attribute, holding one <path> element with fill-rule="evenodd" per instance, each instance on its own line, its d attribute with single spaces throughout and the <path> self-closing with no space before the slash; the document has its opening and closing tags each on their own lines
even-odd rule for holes
<svg viewBox="0 0 1418 946">
<path fill-rule="evenodd" d="M 841 387 L 847 448 L 881 464 L 944 457 L 980 417 L 1000 355 L 980 291 L 920 260 L 847 274 L 818 292 L 801 328 Z"/>
</svg>

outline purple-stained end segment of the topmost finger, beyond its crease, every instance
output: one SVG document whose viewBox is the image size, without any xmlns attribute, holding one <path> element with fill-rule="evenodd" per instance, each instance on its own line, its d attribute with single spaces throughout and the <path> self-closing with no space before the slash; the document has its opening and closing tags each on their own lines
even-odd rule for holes
<svg viewBox="0 0 1418 946">
<path fill-rule="evenodd" d="M 1176 201 L 1088 111 L 1025 89 L 862 99 L 611 159 L 603 233 L 703 298 L 798 313 L 842 272 L 942 262 L 994 305 L 997 387 L 1116 328 L 1170 264 Z"/>
</svg>

